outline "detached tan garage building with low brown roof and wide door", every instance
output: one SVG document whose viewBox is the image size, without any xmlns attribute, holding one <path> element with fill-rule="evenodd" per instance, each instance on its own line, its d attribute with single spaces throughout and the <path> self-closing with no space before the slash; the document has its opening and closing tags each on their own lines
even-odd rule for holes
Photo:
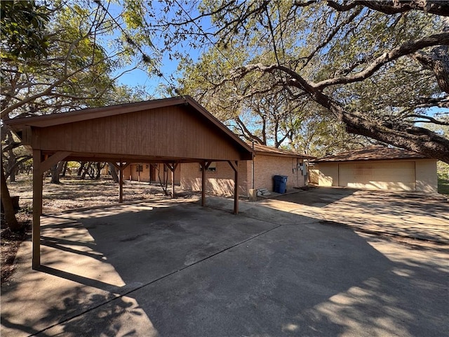
<svg viewBox="0 0 449 337">
<path fill-rule="evenodd" d="M 392 147 L 367 147 L 311 162 L 311 183 L 367 190 L 438 191 L 436 159 Z"/>
</svg>

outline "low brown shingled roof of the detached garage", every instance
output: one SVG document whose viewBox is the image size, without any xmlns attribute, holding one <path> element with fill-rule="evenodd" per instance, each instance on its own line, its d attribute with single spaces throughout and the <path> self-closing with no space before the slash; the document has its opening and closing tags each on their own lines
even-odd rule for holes
<svg viewBox="0 0 449 337">
<path fill-rule="evenodd" d="M 358 161 L 358 160 L 394 160 L 394 159 L 424 159 L 427 158 L 417 152 L 393 147 L 366 147 L 361 150 L 351 150 L 333 154 L 314 160 L 316 163 L 329 161 Z"/>
</svg>

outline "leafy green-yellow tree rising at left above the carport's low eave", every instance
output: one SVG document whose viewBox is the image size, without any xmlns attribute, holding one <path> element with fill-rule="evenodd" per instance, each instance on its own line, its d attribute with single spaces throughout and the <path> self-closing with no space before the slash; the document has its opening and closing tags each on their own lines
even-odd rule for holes
<svg viewBox="0 0 449 337">
<path fill-rule="evenodd" d="M 152 69 L 153 60 L 144 53 L 149 37 L 130 37 L 126 23 L 114 18 L 101 1 L 41 5 L 35 1 L 0 1 L 0 6 L 2 120 L 133 98 L 121 95 L 126 90 L 117 88 L 116 79 L 136 67 Z M 128 68 L 121 71 L 126 65 Z M 3 123 L 1 140 L 2 151 L 19 145 Z M 13 168 L 18 161 L 13 152 L 9 154 L 9 167 Z M 3 193 L 3 187 L 7 189 L 3 155 L 1 164 L 4 201 L 8 194 Z"/>
</svg>

